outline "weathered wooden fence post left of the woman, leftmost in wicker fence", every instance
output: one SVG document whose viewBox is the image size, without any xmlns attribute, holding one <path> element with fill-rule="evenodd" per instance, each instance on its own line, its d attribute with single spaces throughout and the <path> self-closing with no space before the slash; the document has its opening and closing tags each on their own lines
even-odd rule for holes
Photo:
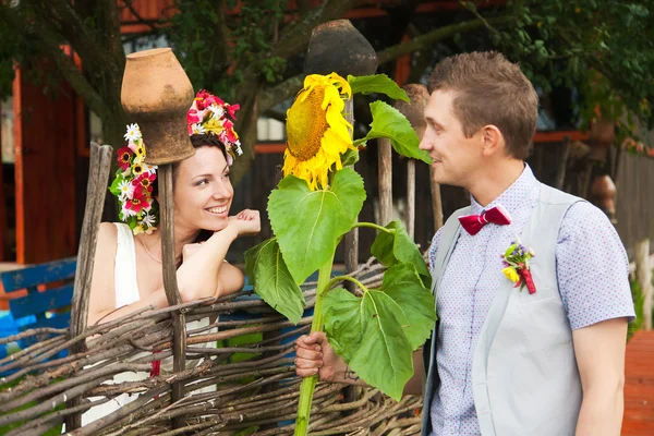
<svg viewBox="0 0 654 436">
<path fill-rule="evenodd" d="M 82 223 L 82 235 L 80 237 L 80 249 L 77 251 L 77 266 L 75 269 L 75 282 L 73 301 L 71 305 L 71 327 L 69 338 L 81 335 L 86 329 L 88 317 L 88 300 L 90 295 L 90 281 L 93 278 L 93 266 L 95 252 L 100 229 L 100 216 L 105 195 L 107 193 L 107 180 L 111 168 L 111 156 L 113 148 L 109 145 L 90 143 L 90 165 L 86 193 L 86 207 L 84 209 L 84 221 Z M 69 352 L 71 355 L 86 350 L 86 342 L 73 343 Z M 82 398 L 76 397 L 66 403 L 66 408 L 82 404 Z M 82 426 L 82 412 L 69 415 L 65 420 L 66 432 Z"/>
</svg>

